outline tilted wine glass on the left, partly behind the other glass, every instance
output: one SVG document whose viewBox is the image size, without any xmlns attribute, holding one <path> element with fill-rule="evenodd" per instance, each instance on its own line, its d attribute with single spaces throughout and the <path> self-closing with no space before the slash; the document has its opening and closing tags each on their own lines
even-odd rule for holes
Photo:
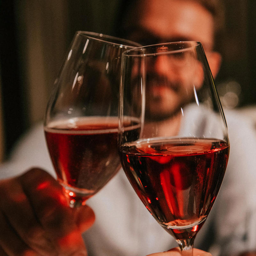
<svg viewBox="0 0 256 256">
<path fill-rule="evenodd" d="M 44 131 L 70 207 L 84 205 L 121 167 L 117 152 L 121 54 L 139 44 L 78 31 L 55 81 Z"/>
</svg>

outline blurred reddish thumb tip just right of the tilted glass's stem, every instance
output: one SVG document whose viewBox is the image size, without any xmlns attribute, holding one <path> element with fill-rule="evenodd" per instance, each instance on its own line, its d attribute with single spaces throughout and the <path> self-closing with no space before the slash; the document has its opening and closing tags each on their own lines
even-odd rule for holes
<svg viewBox="0 0 256 256">
<path fill-rule="evenodd" d="M 76 210 L 76 225 L 81 233 L 92 226 L 95 221 L 95 214 L 88 205 L 80 206 Z"/>
</svg>

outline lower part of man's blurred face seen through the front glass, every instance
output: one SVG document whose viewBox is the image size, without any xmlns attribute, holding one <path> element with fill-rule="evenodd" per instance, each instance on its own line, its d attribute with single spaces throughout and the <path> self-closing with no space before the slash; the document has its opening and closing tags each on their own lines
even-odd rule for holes
<svg viewBox="0 0 256 256">
<path fill-rule="evenodd" d="M 160 48 L 159 53 L 163 53 L 164 48 Z M 165 48 L 168 51 L 168 46 Z M 186 105 L 194 95 L 193 86 L 195 89 L 201 88 L 204 79 L 201 63 L 188 53 L 178 57 L 169 54 L 148 58 L 147 61 L 145 60 L 147 65 L 146 116 L 150 116 L 150 119 L 155 121 L 173 118 L 173 115 L 180 112 L 180 108 Z M 138 76 L 134 72 L 134 75 L 140 83 L 141 73 Z M 136 94 L 137 92 L 133 96 L 134 99 L 138 97 Z M 140 99 L 138 101 L 140 102 Z"/>
</svg>

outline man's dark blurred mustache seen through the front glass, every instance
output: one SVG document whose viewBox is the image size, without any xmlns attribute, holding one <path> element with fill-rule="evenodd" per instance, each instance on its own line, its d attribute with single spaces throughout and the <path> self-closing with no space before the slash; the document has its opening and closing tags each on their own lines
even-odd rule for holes
<svg viewBox="0 0 256 256">
<path fill-rule="evenodd" d="M 181 86 L 179 81 L 170 80 L 167 76 L 156 73 L 148 73 L 146 76 L 135 76 L 132 79 L 132 86 L 140 86 L 141 81 L 142 84 L 146 85 L 146 88 L 164 86 L 175 92 L 178 92 Z"/>
</svg>

